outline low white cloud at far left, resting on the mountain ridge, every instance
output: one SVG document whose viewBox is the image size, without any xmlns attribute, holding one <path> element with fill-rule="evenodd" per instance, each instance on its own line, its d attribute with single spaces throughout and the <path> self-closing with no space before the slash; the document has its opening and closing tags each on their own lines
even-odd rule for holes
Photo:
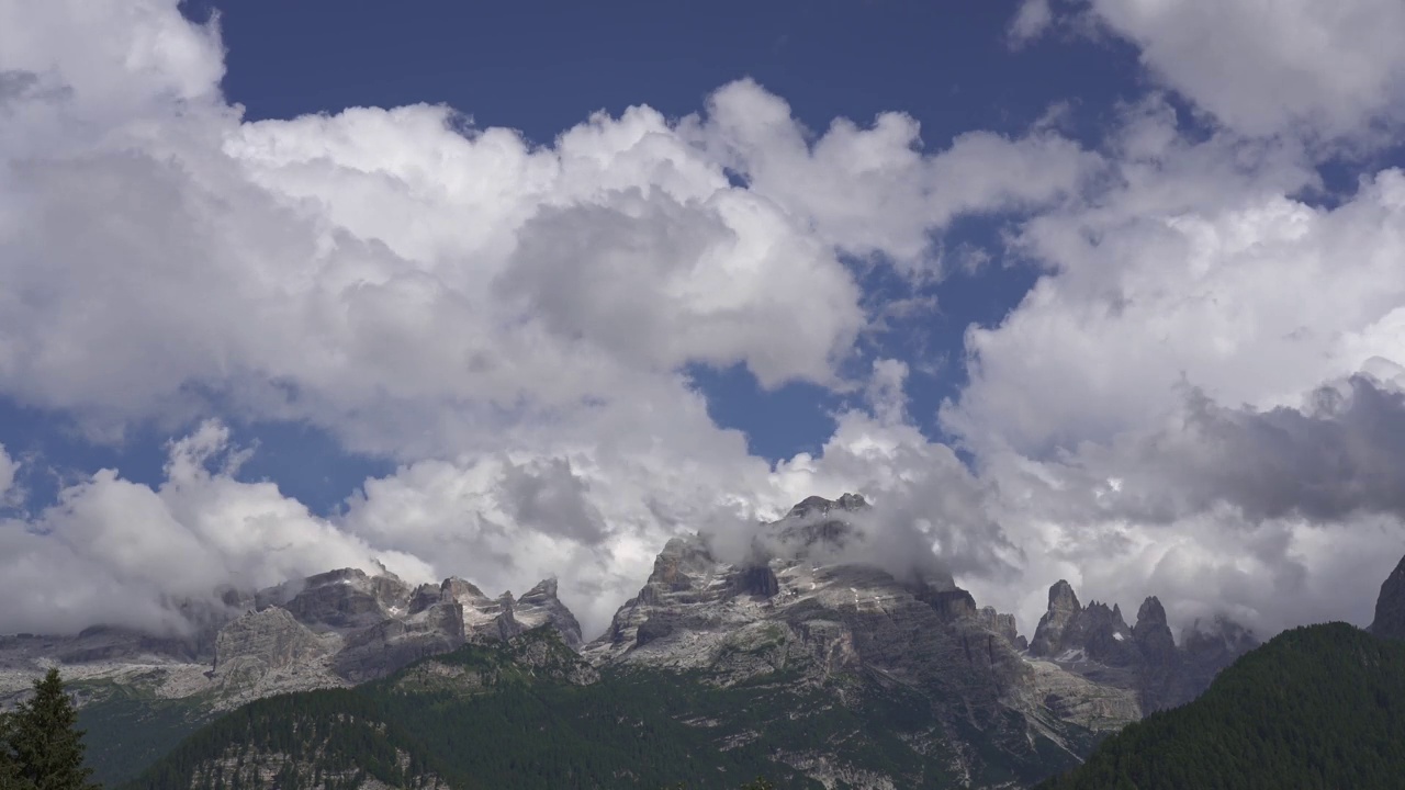
<svg viewBox="0 0 1405 790">
<path fill-rule="evenodd" d="M 232 477 L 239 453 L 207 422 L 173 441 L 157 488 L 115 470 L 66 486 L 34 519 L 0 520 L 3 631 L 72 633 L 93 624 L 181 633 L 187 602 L 216 586 L 271 586 L 327 568 L 382 562 L 412 581 L 429 565 L 316 517 L 273 484 Z"/>
</svg>

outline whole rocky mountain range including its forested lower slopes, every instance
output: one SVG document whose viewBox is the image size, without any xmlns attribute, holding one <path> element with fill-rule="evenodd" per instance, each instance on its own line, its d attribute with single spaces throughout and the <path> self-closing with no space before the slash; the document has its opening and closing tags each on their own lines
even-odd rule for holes
<svg viewBox="0 0 1405 790">
<path fill-rule="evenodd" d="M 121 782 L 156 763 L 150 770 L 164 779 L 143 775 L 145 787 L 185 787 L 197 776 L 201 786 L 233 786 L 211 784 L 221 770 L 237 773 L 230 766 L 261 766 L 244 787 L 298 765 L 326 773 L 316 760 L 292 759 L 287 744 L 242 741 L 247 732 L 229 724 L 251 721 L 249 710 L 277 717 L 284 703 L 267 697 L 287 693 L 301 694 L 277 699 L 322 700 L 288 708 L 292 718 L 336 707 L 343 694 L 403 735 L 382 744 L 399 756 L 378 765 L 403 766 L 381 779 L 343 759 L 348 786 L 403 783 L 412 762 L 438 766 L 416 775 L 424 786 L 483 786 L 472 777 L 489 775 L 495 787 L 562 780 L 504 784 L 517 775 L 492 759 L 510 752 L 531 753 L 532 765 L 594 766 L 589 782 L 573 775 L 573 786 L 658 787 L 665 768 L 655 772 L 652 758 L 631 751 L 646 731 L 649 753 L 677 752 L 669 765 L 691 773 L 674 777 L 694 787 L 733 787 L 746 770 L 783 787 L 1023 787 L 1076 766 L 1130 723 L 1197 697 L 1259 645 L 1227 619 L 1177 642 L 1158 599 L 1144 600 L 1128 626 L 1118 606 L 1083 606 L 1062 581 L 1026 638 L 1013 616 L 979 607 L 936 565 L 894 574 L 853 561 L 868 507 L 857 495 L 809 498 L 760 524 L 742 551 L 707 536 L 673 538 L 639 593 L 589 642 L 549 579 L 520 597 L 492 597 L 457 578 L 412 588 L 384 569 L 339 569 L 225 590 L 222 614 L 198 614 L 202 628 L 184 640 L 115 628 L 0 638 L 0 696 L 17 697 L 58 662 L 83 703 L 100 779 Z M 1402 602 L 1405 571 L 1397 569 L 1373 630 L 1399 628 Z M 407 694 L 414 715 L 403 707 Z M 523 720 L 525 710 L 537 718 Z M 606 710 L 614 718 L 601 720 Z M 427 721 L 437 730 L 426 731 Z M 445 735 L 471 732 L 476 746 L 495 721 L 524 731 L 535 721 L 565 745 L 504 749 L 503 732 L 479 753 Z M 219 727 L 226 741 L 208 734 Z M 177 746 L 197 730 L 205 746 Z M 185 768 L 171 769 L 173 759 Z"/>
</svg>

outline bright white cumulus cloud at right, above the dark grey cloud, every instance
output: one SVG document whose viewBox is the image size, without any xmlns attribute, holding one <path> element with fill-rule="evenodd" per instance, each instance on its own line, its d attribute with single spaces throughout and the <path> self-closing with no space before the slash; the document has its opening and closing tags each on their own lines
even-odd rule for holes
<svg viewBox="0 0 1405 790">
<path fill-rule="evenodd" d="M 1297 170 L 1273 156 L 1243 171 L 1221 139 L 1158 150 L 1154 166 L 1124 162 L 1106 198 L 1023 235 L 1057 271 L 999 326 L 968 332 L 971 384 L 946 415 L 968 441 L 1040 457 L 1156 425 L 1182 384 L 1267 409 L 1401 358 L 1405 174 L 1319 208 L 1286 197 Z"/>
</svg>

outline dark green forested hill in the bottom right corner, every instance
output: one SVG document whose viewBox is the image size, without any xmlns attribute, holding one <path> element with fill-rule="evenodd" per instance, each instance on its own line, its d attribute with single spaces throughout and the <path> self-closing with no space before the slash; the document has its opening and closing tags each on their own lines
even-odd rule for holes
<svg viewBox="0 0 1405 790">
<path fill-rule="evenodd" d="M 1405 642 L 1345 623 L 1284 631 L 1196 701 L 1132 724 L 1041 790 L 1405 786 Z"/>
</svg>

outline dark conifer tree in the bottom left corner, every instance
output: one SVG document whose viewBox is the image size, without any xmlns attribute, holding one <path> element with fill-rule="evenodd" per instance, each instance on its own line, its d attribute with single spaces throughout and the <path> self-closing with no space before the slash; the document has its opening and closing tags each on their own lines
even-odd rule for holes
<svg viewBox="0 0 1405 790">
<path fill-rule="evenodd" d="M 34 790 L 100 790 L 89 782 L 93 769 L 83 766 L 83 731 L 79 713 L 63 690 L 58 669 L 34 683 L 34 697 L 20 704 L 11 723 L 21 782 Z"/>
</svg>

